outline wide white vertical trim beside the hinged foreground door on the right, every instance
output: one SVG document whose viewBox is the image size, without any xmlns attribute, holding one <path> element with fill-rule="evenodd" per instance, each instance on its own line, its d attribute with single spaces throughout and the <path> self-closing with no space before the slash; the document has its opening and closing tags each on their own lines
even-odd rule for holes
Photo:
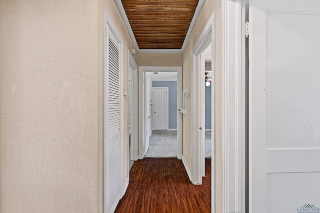
<svg viewBox="0 0 320 213">
<path fill-rule="evenodd" d="M 222 0 L 223 213 L 245 212 L 245 2 Z"/>
</svg>

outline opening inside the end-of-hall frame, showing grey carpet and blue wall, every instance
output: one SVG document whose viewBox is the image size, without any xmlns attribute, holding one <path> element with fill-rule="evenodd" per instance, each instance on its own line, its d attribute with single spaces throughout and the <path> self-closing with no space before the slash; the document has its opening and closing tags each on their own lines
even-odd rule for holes
<svg viewBox="0 0 320 213">
<path fill-rule="evenodd" d="M 177 157 L 177 73 L 145 72 L 144 157 Z"/>
</svg>

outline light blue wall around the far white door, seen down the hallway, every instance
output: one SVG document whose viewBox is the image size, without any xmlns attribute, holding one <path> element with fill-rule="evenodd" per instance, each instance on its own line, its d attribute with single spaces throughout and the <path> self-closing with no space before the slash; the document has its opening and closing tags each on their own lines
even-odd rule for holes
<svg viewBox="0 0 320 213">
<path fill-rule="evenodd" d="M 169 87 L 169 128 L 176 129 L 176 81 L 152 81 L 152 87 Z"/>
</svg>

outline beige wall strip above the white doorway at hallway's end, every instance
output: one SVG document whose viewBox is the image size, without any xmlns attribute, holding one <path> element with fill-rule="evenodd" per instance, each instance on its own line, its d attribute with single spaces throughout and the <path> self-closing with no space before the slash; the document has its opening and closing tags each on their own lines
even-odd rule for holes
<svg viewBox="0 0 320 213">
<path fill-rule="evenodd" d="M 139 66 L 182 66 L 183 54 L 138 54 Z"/>
</svg>

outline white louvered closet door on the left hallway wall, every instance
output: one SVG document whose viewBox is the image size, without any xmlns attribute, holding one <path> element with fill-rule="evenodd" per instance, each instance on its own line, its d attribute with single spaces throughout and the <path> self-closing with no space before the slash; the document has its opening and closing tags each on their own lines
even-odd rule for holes
<svg viewBox="0 0 320 213">
<path fill-rule="evenodd" d="M 104 152 L 106 159 L 107 212 L 120 200 L 120 44 L 108 28 L 106 69 L 104 73 Z"/>
</svg>

